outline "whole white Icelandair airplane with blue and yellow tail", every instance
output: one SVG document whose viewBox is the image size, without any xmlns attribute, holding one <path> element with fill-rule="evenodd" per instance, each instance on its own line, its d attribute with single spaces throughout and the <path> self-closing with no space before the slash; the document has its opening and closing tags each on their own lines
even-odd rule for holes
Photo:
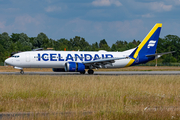
<svg viewBox="0 0 180 120">
<path fill-rule="evenodd" d="M 19 69 L 52 68 L 54 72 L 80 72 L 94 74 L 93 69 L 123 68 L 160 58 L 164 54 L 155 53 L 162 23 L 157 23 L 136 48 L 123 52 L 100 51 L 26 51 L 16 53 L 5 60 L 6 64 Z"/>
</svg>

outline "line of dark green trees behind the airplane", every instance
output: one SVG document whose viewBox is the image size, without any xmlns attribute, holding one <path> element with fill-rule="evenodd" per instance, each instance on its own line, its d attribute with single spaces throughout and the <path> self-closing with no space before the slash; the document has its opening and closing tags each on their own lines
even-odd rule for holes
<svg viewBox="0 0 180 120">
<path fill-rule="evenodd" d="M 117 40 L 116 43 L 109 46 L 105 39 L 102 39 L 93 44 L 89 44 L 85 38 L 75 36 L 70 40 L 61 38 L 58 40 L 49 39 L 46 34 L 39 33 L 37 37 L 28 37 L 25 33 L 12 33 L 9 35 L 4 32 L 0 34 L 0 62 L 11 55 L 12 52 L 31 51 L 36 48 L 53 48 L 54 50 L 63 51 L 64 48 L 68 51 L 124 51 L 131 48 L 135 48 L 140 44 L 139 40 L 133 40 L 127 42 L 123 40 Z M 177 35 L 167 35 L 164 38 L 159 38 L 157 52 L 169 52 L 176 51 L 170 55 L 164 55 L 160 62 L 180 62 L 180 38 Z"/>
</svg>

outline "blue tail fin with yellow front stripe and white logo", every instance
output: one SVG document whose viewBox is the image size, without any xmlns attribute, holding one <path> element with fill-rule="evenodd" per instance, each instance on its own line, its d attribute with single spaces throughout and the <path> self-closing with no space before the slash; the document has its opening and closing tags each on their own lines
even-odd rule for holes
<svg viewBox="0 0 180 120">
<path fill-rule="evenodd" d="M 147 58 L 147 55 L 155 54 L 159 35 L 161 31 L 162 24 L 157 23 L 148 35 L 144 38 L 144 40 L 140 43 L 140 45 L 129 55 L 130 62 L 126 65 L 126 67 L 131 65 L 136 65 L 140 63 L 146 63 L 154 58 Z"/>
</svg>

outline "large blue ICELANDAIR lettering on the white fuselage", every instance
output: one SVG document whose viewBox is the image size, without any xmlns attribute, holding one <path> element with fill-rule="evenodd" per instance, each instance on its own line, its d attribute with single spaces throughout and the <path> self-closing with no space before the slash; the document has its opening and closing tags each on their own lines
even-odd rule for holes
<svg viewBox="0 0 180 120">
<path fill-rule="evenodd" d="M 61 56 L 61 54 L 40 54 L 38 53 L 38 61 L 78 61 L 81 60 L 83 61 L 92 61 L 92 60 L 97 60 L 97 59 L 104 59 L 104 58 L 112 58 L 113 55 L 111 54 L 102 54 L 101 56 L 99 56 L 98 54 L 95 54 L 94 56 L 92 56 L 91 54 L 67 54 L 67 56 L 63 59 L 63 57 Z"/>
</svg>

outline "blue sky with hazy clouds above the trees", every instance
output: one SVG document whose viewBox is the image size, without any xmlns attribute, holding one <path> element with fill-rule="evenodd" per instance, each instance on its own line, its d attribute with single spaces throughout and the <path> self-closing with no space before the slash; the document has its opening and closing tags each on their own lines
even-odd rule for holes
<svg viewBox="0 0 180 120">
<path fill-rule="evenodd" d="M 0 33 L 9 35 L 43 32 L 112 45 L 142 41 L 156 23 L 163 24 L 161 38 L 180 36 L 180 0 L 0 0 Z"/>
</svg>

